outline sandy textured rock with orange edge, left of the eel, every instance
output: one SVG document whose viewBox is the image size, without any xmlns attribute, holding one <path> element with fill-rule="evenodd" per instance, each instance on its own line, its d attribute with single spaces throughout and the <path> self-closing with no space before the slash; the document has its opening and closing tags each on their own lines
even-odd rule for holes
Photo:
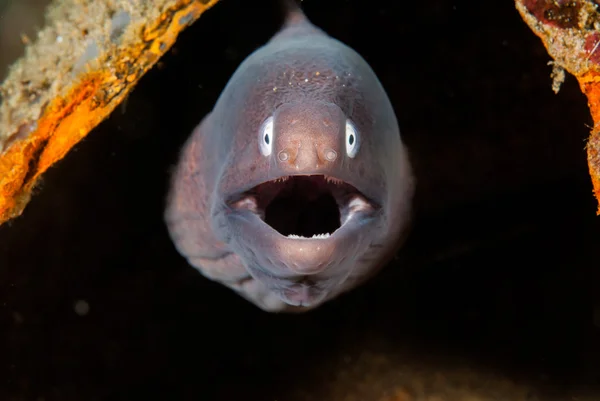
<svg viewBox="0 0 600 401">
<path fill-rule="evenodd" d="M 217 0 L 57 0 L 0 85 L 0 224 Z M 15 33 L 17 34 L 17 33 Z"/>
</svg>

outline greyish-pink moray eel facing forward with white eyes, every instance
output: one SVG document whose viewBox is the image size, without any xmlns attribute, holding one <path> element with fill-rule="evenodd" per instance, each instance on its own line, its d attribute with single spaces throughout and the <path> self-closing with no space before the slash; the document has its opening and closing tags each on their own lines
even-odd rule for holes
<svg viewBox="0 0 600 401">
<path fill-rule="evenodd" d="M 377 273 L 404 241 L 414 188 L 366 61 L 299 9 L 286 21 L 193 131 L 165 213 L 192 266 L 268 312 L 308 311 Z"/>
</svg>

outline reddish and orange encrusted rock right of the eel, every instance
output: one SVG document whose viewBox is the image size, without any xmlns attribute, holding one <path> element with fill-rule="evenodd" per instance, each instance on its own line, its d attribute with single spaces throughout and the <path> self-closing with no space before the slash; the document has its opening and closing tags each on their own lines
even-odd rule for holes
<svg viewBox="0 0 600 401">
<path fill-rule="evenodd" d="M 600 13 L 592 0 L 515 0 L 517 10 L 556 65 L 573 74 L 587 96 L 594 128 L 587 143 L 588 169 L 600 203 Z M 600 207 L 597 209 L 600 215 Z"/>
</svg>

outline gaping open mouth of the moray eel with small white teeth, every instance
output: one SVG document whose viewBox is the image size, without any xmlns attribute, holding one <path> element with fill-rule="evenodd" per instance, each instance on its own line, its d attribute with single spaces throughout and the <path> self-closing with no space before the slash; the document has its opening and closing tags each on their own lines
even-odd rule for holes
<svg viewBox="0 0 600 401">
<path fill-rule="evenodd" d="M 325 175 L 281 177 L 257 185 L 231 203 L 290 238 L 328 238 L 357 213 L 375 206 L 352 185 Z"/>
</svg>

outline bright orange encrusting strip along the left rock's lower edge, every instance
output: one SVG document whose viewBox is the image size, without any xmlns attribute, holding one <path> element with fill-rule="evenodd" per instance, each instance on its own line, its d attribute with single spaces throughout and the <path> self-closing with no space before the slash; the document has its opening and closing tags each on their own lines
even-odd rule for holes
<svg viewBox="0 0 600 401">
<path fill-rule="evenodd" d="M 0 224 L 22 213 L 38 178 L 104 120 L 177 35 L 217 1 L 178 1 L 135 43 L 102 55 L 101 68 L 80 74 L 66 95 L 45 107 L 34 130 L 0 156 Z"/>
</svg>

